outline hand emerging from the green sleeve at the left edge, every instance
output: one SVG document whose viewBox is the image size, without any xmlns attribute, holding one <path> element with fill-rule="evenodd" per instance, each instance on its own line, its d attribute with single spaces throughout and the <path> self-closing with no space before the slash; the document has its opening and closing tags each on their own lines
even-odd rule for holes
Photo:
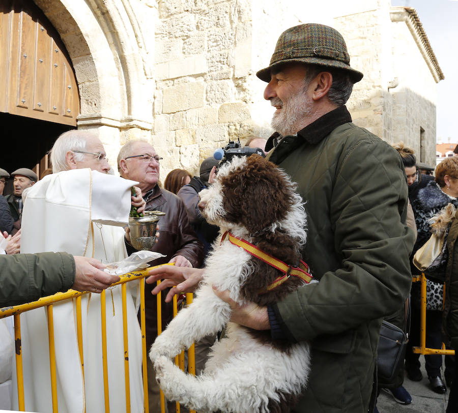
<svg viewBox="0 0 458 413">
<path fill-rule="evenodd" d="M 75 282 L 72 289 L 77 291 L 102 292 L 120 277 L 101 271 L 106 266 L 95 258 L 73 257 L 75 259 Z"/>
</svg>

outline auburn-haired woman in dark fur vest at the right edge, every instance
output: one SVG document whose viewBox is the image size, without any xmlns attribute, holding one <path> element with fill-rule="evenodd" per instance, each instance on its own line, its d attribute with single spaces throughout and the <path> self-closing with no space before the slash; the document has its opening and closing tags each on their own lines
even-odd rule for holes
<svg viewBox="0 0 458 413">
<path fill-rule="evenodd" d="M 426 176 L 426 175 L 422 175 Z M 410 188 L 409 188 L 410 189 Z M 429 181 L 420 188 L 415 188 L 415 198 L 411 199 L 412 208 L 417 225 L 417 241 L 414 245 L 413 254 L 424 245 L 431 237 L 429 220 L 444 208 L 448 203 L 454 206 L 458 205 L 458 157 L 444 159 L 436 167 L 435 180 Z M 417 190 L 418 189 L 418 190 Z M 410 191 L 409 191 L 410 192 Z M 410 197 L 410 193 L 409 193 Z M 413 272 L 419 274 L 419 270 Z M 410 346 L 419 343 L 419 285 L 415 283 L 412 286 L 412 334 L 410 337 Z M 442 282 L 428 280 L 427 289 L 433 291 L 437 289 L 438 293 L 442 291 Z M 441 318 L 442 303 L 427 302 L 426 310 L 426 347 L 441 348 Z M 419 355 L 413 353 L 409 348 L 406 352 L 406 371 L 411 380 L 420 381 L 422 375 L 420 372 Z M 439 394 L 446 392 L 446 387 L 441 378 L 440 369 L 442 367 L 441 355 L 425 356 L 425 368 L 432 389 Z M 454 372 L 454 359 L 452 356 L 445 358 L 445 380 L 447 385 L 451 384 Z"/>
</svg>

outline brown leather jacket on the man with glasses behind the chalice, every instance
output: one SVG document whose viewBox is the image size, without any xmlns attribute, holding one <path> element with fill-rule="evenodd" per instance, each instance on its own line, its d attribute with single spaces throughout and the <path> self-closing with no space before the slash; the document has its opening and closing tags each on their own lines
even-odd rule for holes
<svg viewBox="0 0 458 413">
<path fill-rule="evenodd" d="M 175 194 L 159 188 L 156 185 L 152 192 L 147 192 L 144 196 L 146 201 L 146 211 L 162 211 L 165 216 L 161 216 L 158 222 L 160 237 L 152 251 L 160 252 L 165 257 L 153 261 L 153 265 L 159 265 L 170 261 L 171 258 L 182 255 L 191 262 L 194 268 L 201 267 L 204 259 L 204 247 L 198 241 L 197 235 L 189 224 L 186 207 L 183 201 Z M 129 248 L 130 247 L 130 248 Z M 128 253 L 135 252 L 133 247 L 127 247 Z M 155 284 L 145 284 L 145 306 L 146 306 L 146 334 L 147 349 L 157 337 L 157 310 L 156 296 L 151 290 Z M 173 317 L 173 307 L 171 303 L 165 303 L 166 291 L 162 292 L 162 329 Z"/>
</svg>

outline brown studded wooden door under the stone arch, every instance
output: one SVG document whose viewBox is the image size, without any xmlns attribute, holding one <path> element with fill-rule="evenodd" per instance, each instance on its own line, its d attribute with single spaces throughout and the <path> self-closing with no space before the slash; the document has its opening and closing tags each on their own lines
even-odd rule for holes
<svg viewBox="0 0 458 413">
<path fill-rule="evenodd" d="M 76 126 L 79 96 L 70 58 L 31 0 L 0 2 L 0 111 Z"/>
</svg>

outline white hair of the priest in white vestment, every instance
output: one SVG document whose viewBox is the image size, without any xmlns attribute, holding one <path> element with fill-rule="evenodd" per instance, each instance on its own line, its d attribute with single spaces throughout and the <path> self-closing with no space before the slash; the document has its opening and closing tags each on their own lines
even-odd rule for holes
<svg viewBox="0 0 458 413">
<path fill-rule="evenodd" d="M 71 130 L 64 132 L 57 138 L 51 149 L 52 173 L 62 172 L 69 169 L 65 156 L 68 151 L 85 151 L 86 139 L 93 137 L 90 132 Z M 75 153 L 75 159 L 81 162 L 84 154 Z"/>
</svg>

